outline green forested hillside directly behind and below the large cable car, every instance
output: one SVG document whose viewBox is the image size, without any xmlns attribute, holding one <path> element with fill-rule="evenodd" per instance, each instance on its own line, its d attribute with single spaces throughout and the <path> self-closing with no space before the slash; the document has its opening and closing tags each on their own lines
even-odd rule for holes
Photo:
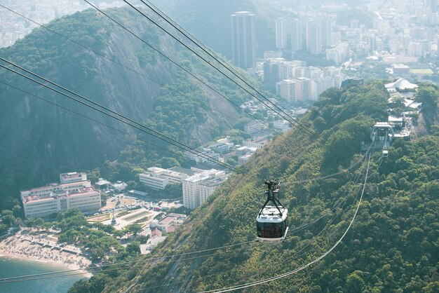
<svg viewBox="0 0 439 293">
<path fill-rule="evenodd" d="M 360 142 L 385 118 L 386 98 L 381 83 L 327 90 L 302 120 L 324 146 L 302 130 L 278 137 L 149 257 L 196 253 L 141 261 L 80 282 L 72 292 L 95 292 L 93 287 L 109 280 L 106 275 L 112 278 L 105 292 L 200 292 L 270 278 L 313 261 L 349 226 L 367 168 Z M 337 176 L 308 180 L 359 161 Z M 438 166 L 437 126 L 426 137 L 396 140 L 388 158 L 375 152 L 363 202 L 342 243 L 304 271 L 247 291 L 437 292 Z M 281 201 L 290 210 L 290 232 L 279 244 L 254 241 L 262 182 L 269 177 L 283 182 Z M 197 252 L 224 245 L 234 246 Z"/>
</svg>

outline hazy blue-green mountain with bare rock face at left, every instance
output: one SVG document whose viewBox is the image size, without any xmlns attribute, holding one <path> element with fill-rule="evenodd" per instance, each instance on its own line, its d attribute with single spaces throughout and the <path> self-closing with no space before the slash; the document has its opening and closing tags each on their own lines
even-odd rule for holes
<svg viewBox="0 0 439 293">
<path fill-rule="evenodd" d="M 181 50 L 135 11 L 115 8 L 107 13 L 147 43 L 89 9 L 50 22 L 47 27 L 55 33 L 34 29 L 14 46 L 2 48 L 0 55 L 192 147 L 208 142 L 234 125 L 238 111 L 218 93 L 238 104 L 247 98 L 245 95 Z M 147 44 L 166 52 L 170 58 L 201 76 L 218 93 L 201 86 Z M 6 65 L 6 62 L 2 64 Z M 133 180 L 134 168 L 184 162 L 181 153 L 175 154 L 178 149 L 170 152 L 168 144 L 6 69 L 0 69 L 0 81 L 26 91 L 0 83 L 0 148 L 5 150 L 0 154 L 0 175 L 5 178 L 0 184 L 2 208 L 11 208 L 18 203 L 20 189 L 55 182 L 60 172 L 100 168 L 90 173 L 90 179 L 102 175 L 109 179 Z M 39 100 L 34 95 L 130 135 Z M 133 136 L 141 140 L 135 140 Z"/>
</svg>

